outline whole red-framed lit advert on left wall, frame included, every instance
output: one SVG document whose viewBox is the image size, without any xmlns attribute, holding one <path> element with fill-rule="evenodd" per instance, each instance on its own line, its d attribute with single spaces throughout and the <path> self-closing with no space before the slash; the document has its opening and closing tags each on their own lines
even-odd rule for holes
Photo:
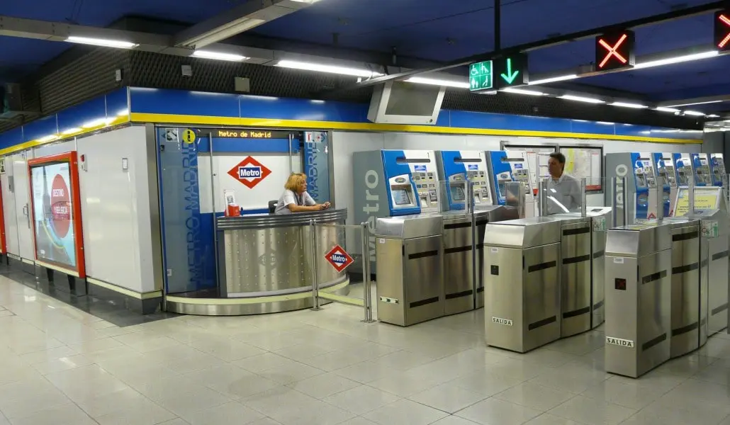
<svg viewBox="0 0 730 425">
<path fill-rule="evenodd" d="M 36 260 L 85 277 L 76 152 L 28 161 Z"/>
</svg>

